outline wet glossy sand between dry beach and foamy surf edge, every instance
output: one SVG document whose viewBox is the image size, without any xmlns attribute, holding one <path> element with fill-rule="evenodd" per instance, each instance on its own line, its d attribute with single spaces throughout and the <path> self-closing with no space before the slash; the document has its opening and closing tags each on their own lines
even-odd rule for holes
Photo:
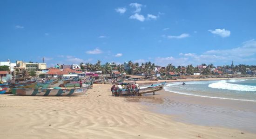
<svg viewBox="0 0 256 139">
<path fill-rule="evenodd" d="M 161 103 L 155 103 L 154 106 L 157 108 L 154 110 L 150 108 L 148 110 L 159 114 L 172 115 L 175 117 L 175 121 L 201 126 L 217 125 L 256 133 L 256 122 L 254 121 L 256 118 L 256 102 L 254 101 L 198 97 L 166 90 L 145 97 L 164 100 Z M 150 103 L 145 101 L 144 105 L 148 106 Z M 201 115 L 200 118 L 198 118 L 198 114 Z"/>
</svg>

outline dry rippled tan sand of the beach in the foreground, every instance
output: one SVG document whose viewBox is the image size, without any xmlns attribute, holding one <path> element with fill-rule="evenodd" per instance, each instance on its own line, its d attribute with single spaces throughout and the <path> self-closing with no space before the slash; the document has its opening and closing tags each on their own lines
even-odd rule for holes
<svg viewBox="0 0 256 139">
<path fill-rule="evenodd" d="M 110 87 L 94 84 L 86 95 L 75 97 L 0 95 L 0 138 L 256 139 L 239 129 L 174 120 L 138 101 L 161 103 L 161 98 L 112 97 Z"/>
</svg>

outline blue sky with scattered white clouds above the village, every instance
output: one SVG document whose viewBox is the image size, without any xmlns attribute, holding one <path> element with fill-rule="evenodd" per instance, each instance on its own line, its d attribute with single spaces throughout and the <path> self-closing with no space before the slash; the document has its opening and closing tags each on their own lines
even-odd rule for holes
<svg viewBox="0 0 256 139">
<path fill-rule="evenodd" d="M 0 61 L 256 65 L 255 0 L 1 0 Z"/>
</svg>

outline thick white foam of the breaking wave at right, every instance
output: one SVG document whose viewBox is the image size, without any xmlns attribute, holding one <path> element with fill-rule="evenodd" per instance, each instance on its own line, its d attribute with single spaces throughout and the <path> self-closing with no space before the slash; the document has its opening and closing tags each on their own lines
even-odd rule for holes
<svg viewBox="0 0 256 139">
<path fill-rule="evenodd" d="M 232 84 L 232 83 L 228 83 L 225 80 L 211 83 L 208 85 L 208 87 L 217 88 L 217 89 L 236 90 L 236 91 L 250 91 L 250 92 L 256 91 L 256 86 Z"/>
</svg>

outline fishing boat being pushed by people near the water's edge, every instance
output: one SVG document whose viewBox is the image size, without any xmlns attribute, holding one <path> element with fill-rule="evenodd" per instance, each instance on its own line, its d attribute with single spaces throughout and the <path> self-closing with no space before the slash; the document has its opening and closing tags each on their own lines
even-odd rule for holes
<svg viewBox="0 0 256 139">
<path fill-rule="evenodd" d="M 162 82 L 162 83 L 150 85 L 147 87 L 140 87 L 139 94 L 137 94 L 137 95 L 146 94 L 146 93 L 154 93 L 154 95 L 155 95 L 156 91 L 163 89 L 163 86 L 165 85 L 165 83 L 166 82 Z M 127 94 L 128 94 L 128 91 L 125 89 L 115 92 L 115 95 L 127 95 Z M 131 91 L 131 94 L 132 94 L 132 91 Z"/>
</svg>

